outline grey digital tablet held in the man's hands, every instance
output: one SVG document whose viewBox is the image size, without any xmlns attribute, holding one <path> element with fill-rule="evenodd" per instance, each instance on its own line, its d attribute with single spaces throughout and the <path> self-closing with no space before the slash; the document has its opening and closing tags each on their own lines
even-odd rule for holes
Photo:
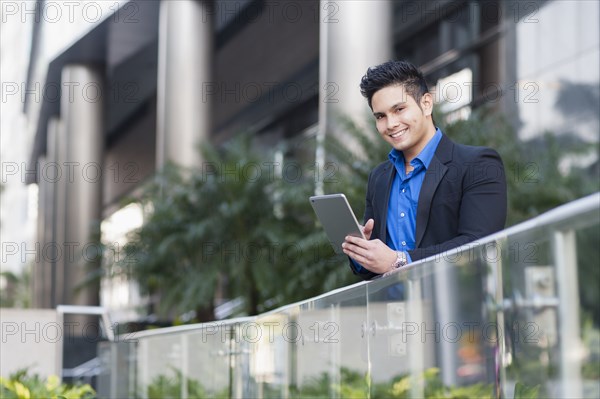
<svg viewBox="0 0 600 399">
<path fill-rule="evenodd" d="M 347 235 L 365 238 L 344 194 L 316 195 L 310 197 L 310 204 L 337 254 L 344 253 L 342 244 Z"/>
</svg>

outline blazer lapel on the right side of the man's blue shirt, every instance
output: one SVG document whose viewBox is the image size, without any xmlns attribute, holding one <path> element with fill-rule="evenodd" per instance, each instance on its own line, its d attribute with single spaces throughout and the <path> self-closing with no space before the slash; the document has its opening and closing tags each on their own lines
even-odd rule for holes
<svg viewBox="0 0 600 399">
<path fill-rule="evenodd" d="M 415 245 L 417 248 L 420 247 L 425 230 L 427 230 L 429 211 L 431 210 L 431 202 L 433 201 L 435 191 L 448 171 L 448 167 L 445 164 L 452 160 L 453 147 L 454 143 L 446 135 L 443 135 L 425 173 L 417 205 L 417 226 L 415 231 Z"/>
</svg>

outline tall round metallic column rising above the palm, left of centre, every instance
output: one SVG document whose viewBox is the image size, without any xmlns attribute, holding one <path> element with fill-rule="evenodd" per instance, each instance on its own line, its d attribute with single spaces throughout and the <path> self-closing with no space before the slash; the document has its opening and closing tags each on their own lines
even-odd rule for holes
<svg viewBox="0 0 600 399">
<path fill-rule="evenodd" d="M 160 5 L 156 164 L 192 167 L 210 135 L 211 104 L 203 86 L 212 79 L 213 24 L 209 1 Z"/>
</svg>

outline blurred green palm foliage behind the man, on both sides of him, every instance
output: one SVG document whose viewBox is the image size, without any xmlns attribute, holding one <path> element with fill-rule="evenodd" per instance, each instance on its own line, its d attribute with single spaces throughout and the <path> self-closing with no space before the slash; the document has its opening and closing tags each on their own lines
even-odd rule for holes
<svg viewBox="0 0 600 399">
<path fill-rule="evenodd" d="M 274 149 L 257 151 L 247 135 L 220 148 L 205 146 L 199 169 L 171 166 L 157 176 L 139 199 L 149 214 L 132 234 L 125 261 L 142 290 L 160 298 L 159 312 L 195 310 L 201 320 L 212 319 L 218 296 L 241 297 L 244 313 L 256 314 L 357 281 L 347 258 L 333 253 L 307 199 L 315 178 L 321 179 L 326 193 L 346 194 L 360 219 L 368 174 L 387 159 L 389 146 L 374 128 L 360 129 L 350 119 L 339 124 L 347 137 L 328 137 L 327 164 L 301 165 L 305 172 L 321 170 L 302 179 L 273 173 Z M 441 128 L 457 142 L 490 146 L 501 154 L 509 225 L 593 191 L 593 177 L 559 172 L 555 141 L 523 143 L 502 117 L 487 110 Z M 314 154 L 317 140 L 303 138 L 300 145 Z M 282 145 L 277 151 L 288 149 Z M 536 174 L 528 175 L 524 165 L 534 165 Z"/>
</svg>

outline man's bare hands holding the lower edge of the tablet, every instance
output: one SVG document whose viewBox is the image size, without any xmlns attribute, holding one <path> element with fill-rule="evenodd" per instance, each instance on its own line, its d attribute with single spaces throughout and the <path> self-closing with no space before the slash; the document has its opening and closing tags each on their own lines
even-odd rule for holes
<svg viewBox="0 0 600 399">
<path fill-rule="evenodd" d="M 396 251 L 385 245 L 381 240 L 369 240 L 373 231 L 373 219 L 369 219 L 363 228 L 366 240 L 346 236 L 346 241 L 342 244 L 344 253 L 360 263 L 366 269 L 377 274 L 384 274 L 392 269 L 392 264 L 396 261 Z"/>
</svg>

